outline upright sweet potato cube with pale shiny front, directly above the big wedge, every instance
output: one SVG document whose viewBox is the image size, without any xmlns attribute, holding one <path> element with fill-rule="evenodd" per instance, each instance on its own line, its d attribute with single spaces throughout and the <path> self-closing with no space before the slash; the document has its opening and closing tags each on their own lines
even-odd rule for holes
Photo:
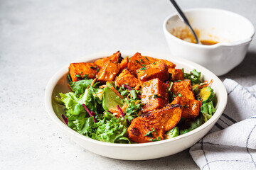
<svg viewBox="0 0 256 170">
<path fill-rule="evenodd" d="M 142 84 L 142 112 L 146 113 L 154 109 L 163 108 L 168 104 L 168 89 L 163 81 L 151 79 Z"/>
</svg>

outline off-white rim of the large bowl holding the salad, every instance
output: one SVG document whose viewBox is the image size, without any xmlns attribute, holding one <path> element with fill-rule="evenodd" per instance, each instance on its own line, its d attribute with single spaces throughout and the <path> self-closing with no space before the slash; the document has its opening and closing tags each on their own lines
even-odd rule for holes
<svg viewBox="0 0 256 170">
<path fill-rule="evenodd" d="M 122 50 L 121 53 L 126 56 L 132 56 L 132 54 L 135 54 L 137 50 Z M 163 145 L 168 142 L 173 142 L 173 141 L 178 141 L 178 140 L 183 140 L 184 138 L 194 135 L 198 132 L 201 132 L 204 128 L 208 127 L 209 125 L 212 125 L 213 123 L 217 122 L 218 118 L 220 118 L 220 115 L 223 113 L 225 106 L 228 101 L 228 94 L 225 89 L 225 86 L 223 82 L 215 75 L 213 72 L 210 72 L 210 70 L 206 69 L 205 67 L 196 64 L 194 62 L 185 60 L 183 58 L 174 58 L 170 54 L 166 53 L 161 53 L 161 52 L 149 52 L 149 51 L 139 51 L 143 55 L 146 56 L 151 56 L 151 57 L 156 57 L 159 56 L 159 58 L 164 58 L 168 57 L 168 60 L 175 61 L 178 60 L 178 62 L 181 62 L 184 65 L 188 66 L 193 66 L 196 69 L 200 69 L 202 72 L 202 76 L 204 74 L 209 74 L 210 77 L 215 79 L 215 83 L 219 84 L 218 89 L 220 90 L 219 98 L 220 102 L 218 102 L 218 108 L 216 109 L 215 113 L 213 114 L 212 118 L 210 118 L 206 123 L 201 125 L 200 127 L 196 128 L 195 130 L 191 130 L 190 132 L 187 132 L 186 134 L 180 135 L 178 137 L 174 137 L 171 139 L 167 140 L 161 140 L 161 141 L 156 141 L 156 142 L 148 142 L 148 143 L 136 143 L 136 144 L 119 144 L 119 143 L 110 143 L 110 142 L 102 142 L 98 140 L 93 140 L 90 137 L 86 137 L 84 135 L 81 135 L 80 133 L 76 132 L 75 130 L 72 130 L 71 128 L 68 127 L 68 125 L 65 125 L 62 120 L 58 118 L 58 116 L 55 114 L 53 111 L 52 107 L 52 94 L 53 94 L 53 89 L 55 88 L 55 85 L 58 83 L 61 77 L 63 77 L 65 74 L 68 73 L 68 66 L 69 64 L 65 65 L 62 69 L 60 69 L 58 72 L 56 72 L 53 77 L 50 78 L 48 81 L 48 84 L 46 86 L 46 92 L 45 92 L 45 104 L 46 104 L 46 110 L 48 111 L 48 116 L 62 128 L 63 130 L 69 132 L 72 135 L 75 135 L 76 137 L 79 137 L 81 140 L 86 140 L 87 142 L 92 142 L 97 145 L 105 145 L 105 146 L 110 146 L 110 147 L 147 147 L 147 146 L 154 146 L 154 145 Z M 80 58 L 79 60 L 75 60 L 75 62 L 89 62 L 90 60 L 96 60 L 97 58 L 100 57 L 107 57 L 110 56 L 113 52 L 97 52 L 91 55 L 86 55 L 85 57 Z M 160 57 L 164 56 L 164 57 Z M 71 62 L 70 62 L 71 63 Z"/>
</svg>

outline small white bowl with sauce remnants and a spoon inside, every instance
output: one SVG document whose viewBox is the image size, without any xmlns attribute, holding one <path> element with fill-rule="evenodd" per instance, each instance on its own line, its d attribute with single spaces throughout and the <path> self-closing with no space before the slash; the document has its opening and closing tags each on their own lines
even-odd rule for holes
<svg viewBox="0 0 256 170">
<path fill-rule="evenodd" d="M 186 25 L 175 13 L 164 21 L 164 34 L 173 56 L 201 64 L 218 76 L 228 73 L 242 62 L 255 33 L 247 18 L 214 8 L 194 8 L 184 13 L 192 28 L 200 31 L 200 39 L 219 43 L 198 45 L 176 38 L 169 31 Z"/>
</svg>

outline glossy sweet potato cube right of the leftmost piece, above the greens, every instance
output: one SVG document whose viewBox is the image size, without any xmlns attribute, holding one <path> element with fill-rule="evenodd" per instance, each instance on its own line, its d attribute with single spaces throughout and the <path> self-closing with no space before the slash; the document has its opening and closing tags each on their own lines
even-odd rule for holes
<svg viewBox="0 0 256 170">
<path fill-rule="evenodd" d="M 102 83 L 105 83 L 106 81 L 114 81 L 114 78 L 118 74 L 119 69 L 120 66 L 117 62 L 108 61 L 97 74 L 97 80 L 101 81 Z"/>
</svg>

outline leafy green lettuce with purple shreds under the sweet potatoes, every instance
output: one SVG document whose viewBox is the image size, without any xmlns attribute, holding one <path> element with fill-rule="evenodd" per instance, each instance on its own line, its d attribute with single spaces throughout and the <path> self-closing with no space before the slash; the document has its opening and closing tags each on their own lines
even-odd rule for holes
<svg viewBox="0 0 256 170">
<path fill-rule="evenodd" d="M 201 80 L 201 72 L 193 69 L 190 73 L 183 72 L 183 76 L 185 79 L 191 80 L 195 97 L 197 100 L 201 100 L 204 97 L 201 89 L 202 84 L 204 85 Z M 80 81 L 70 81 L 69 86 L 72 92 L 60 93 L 60 98 L 55 98 L 56 102 L 65 106 L 68 127 L 95 140 L 131 143 L 127 135 L 127 128 L 131 120 L 137 118 L 141 112 L 143 106 L 142 90 L 132 89 L 127 84 L 118 87 L 114 86 L 113 82 L 101 84 L 100 81 L 94 83 L 92 81 L 87 77 Z M 102 85 L 105 85 L 104 89 L 100 88 Z M 169 82 L 169 93 L 171 86 L 173 86 L 172 81 Z M 123 98 L 120 98 L 111 87 L 117 89 Z M 214 95 L 213 89 L 210 89 L 210 97 L 207 98 L 206 102 L 203 102 L 201 113 L 194 119 L 181 118 L 175 128 L 166 132 L 166 137 L 172 138 L 182 135 L 206 123 L 215 112 Z M 170 101 L 173 99 L 172 97 L 169 95 Z M 124 117 L 116 117 L 112 114 L 112 111 L 117 110 L 117 106 L 120 109 L 123 107 Z"/>
</svg>

